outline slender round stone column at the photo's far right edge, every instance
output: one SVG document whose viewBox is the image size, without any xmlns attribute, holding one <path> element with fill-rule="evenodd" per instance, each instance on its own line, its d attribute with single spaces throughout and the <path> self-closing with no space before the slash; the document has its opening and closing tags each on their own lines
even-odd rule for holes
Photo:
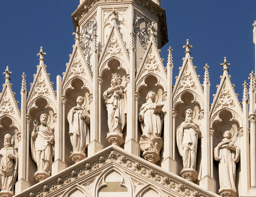
<svg viewBox="0 0 256 197">
<path fill-rule="evenodd" d="M 256 115 L 249 116 L 250 121 L 250 160 L 251 160 L 251 187 L 250 190 L 256 190 L 256 135 L 255 135 Z"/>
</svg>

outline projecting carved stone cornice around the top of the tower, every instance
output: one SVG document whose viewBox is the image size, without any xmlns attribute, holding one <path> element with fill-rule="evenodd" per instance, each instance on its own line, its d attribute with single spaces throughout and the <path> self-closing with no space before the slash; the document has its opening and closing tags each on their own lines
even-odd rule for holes
<svg viewBox="0 0 256 197">
<path fill-rule="evenodd" d="M 154 3 L 152 0 L 85 0 L 78 8 L 72 13 L 72 20 L 74 28 L 78 26 L 78 21 L 93 10 L 99 3 L 132 3 L 134 6 L 138 6 L 142 11 L 146 11 L 149 14 L 155 16 L 158 19 L 158 32 L 159 32 L 159 47 L 161 48 L 168 42 L 167 24 L 165 10 Z"/>
</svg>

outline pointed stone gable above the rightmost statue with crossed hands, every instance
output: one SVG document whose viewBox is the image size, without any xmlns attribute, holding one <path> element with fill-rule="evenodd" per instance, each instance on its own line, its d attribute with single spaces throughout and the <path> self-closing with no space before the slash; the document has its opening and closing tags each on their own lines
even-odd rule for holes
<svg viewBox="0 0 256 197">
<path fill-rule="evenodd" d="M 231 84 L 230 76 L 224 74 L 220 76 L 220 85 L 217 85 L 217 92 L 214 94 L 214 100 L 210 111 L 210 122 L 220 120 L 218 113 L 222 109 L 227 109 L 232 112 L 232 119 L 242 123 L 242 108 L 238 101 L 237 94 Z"/>
</svg>

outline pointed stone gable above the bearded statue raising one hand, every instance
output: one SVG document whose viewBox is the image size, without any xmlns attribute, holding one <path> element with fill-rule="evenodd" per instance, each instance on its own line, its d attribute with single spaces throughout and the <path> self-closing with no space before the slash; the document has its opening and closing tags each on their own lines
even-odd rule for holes
<svg viewBox="0 0 256 197">
<path fill-rule="evenodd" d="M 50 74 L 46 72 L 46 65 L 37 65 L 37 74 L 34 74 L 34 81 L 30 84 L 30 92 L 27 96 L 27 111 L 37 107 L 35 101 L 38 97 L 44 97 L 48 101 L 48 107 L 56 111 L 56 95 L 53 90 L 53 82 L 50 81 Z"/>
</svg>

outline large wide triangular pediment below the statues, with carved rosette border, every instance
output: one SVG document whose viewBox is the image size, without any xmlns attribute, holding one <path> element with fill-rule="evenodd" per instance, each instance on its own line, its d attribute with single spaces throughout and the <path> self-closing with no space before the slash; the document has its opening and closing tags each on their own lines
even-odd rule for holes
<svg viewBox="0 0 256 197">
<path fill-rule="evenodd" d="M 207 192 L 204 188 L 131 155 L 114 144 L 16 196 L 37 194 L 70 197 L 71 191 L 95 197 L 104 196 L 105 193 L 110 195 L 111 192 L 120 192 L 120 196 L 157 193 L 161 197 L 187 197 L 187 193 L 190 193 L 192 196 L 218 197 L 217 194 Z"/>
</svg>

